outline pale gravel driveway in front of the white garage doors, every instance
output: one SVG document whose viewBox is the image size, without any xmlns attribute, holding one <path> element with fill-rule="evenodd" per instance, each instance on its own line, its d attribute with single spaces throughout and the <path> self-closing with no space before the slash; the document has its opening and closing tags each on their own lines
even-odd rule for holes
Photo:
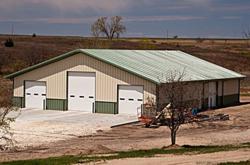
<svg viewBox="0 0 250 165">
<path fill-rule="evenodd" d="M 11 125 L 18 147 L 39 146 L 72 137 L 86 136 L 110 126 L 135 121 L 135 116 L 91 114 L 80 111 L 22 109 Z"/>
</svg>

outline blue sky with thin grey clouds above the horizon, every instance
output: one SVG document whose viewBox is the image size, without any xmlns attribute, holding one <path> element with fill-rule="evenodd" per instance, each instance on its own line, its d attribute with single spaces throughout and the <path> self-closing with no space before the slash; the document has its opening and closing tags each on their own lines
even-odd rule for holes
<svg viewBox="0 0 250 165">
<path fill-rule="evenodd" d="M 1 0 L 0 33 L 90 36 L 91 23 L 114 15 L 126 37 L 242 38 L 250 0 Z"/>
</svg>

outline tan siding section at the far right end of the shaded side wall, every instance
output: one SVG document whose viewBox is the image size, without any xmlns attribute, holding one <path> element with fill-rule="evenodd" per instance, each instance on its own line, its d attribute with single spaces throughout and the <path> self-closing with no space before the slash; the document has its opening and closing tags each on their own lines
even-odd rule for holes
<svg viewBox="0 0 250 165">
<path fill-rule="evenodd" d="M 233 95 L 239 93 L 239 80 L 231 79 L 224 81 L 224 95 Z"/>
</svg>

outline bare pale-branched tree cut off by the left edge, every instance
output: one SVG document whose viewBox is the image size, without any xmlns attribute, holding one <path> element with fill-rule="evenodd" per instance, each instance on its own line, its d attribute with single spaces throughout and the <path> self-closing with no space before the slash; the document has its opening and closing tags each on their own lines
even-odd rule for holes
<svg viewBox="0 0 250 165">
<path fill-rule="evenodd" d="M 14 147 L 13 132 L 10 124 L 15 121 L 17 114 L 11 114 L 18 108 L 12 106 L 12 92 L 5 81 L 0 83 L 0 150 Z"/>
</svg>

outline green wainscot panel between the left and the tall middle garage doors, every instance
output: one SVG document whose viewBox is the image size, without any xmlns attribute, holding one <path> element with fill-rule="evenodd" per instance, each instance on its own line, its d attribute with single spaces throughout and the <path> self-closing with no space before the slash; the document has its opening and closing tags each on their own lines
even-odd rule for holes
<svg viewBox="0 0 250 165">
<path fill-rule="evenodd" d="M 67 100 L 66 99 L 46 99 L 46 109 L 49 110 L 67 110 Z"/>
</svg>

